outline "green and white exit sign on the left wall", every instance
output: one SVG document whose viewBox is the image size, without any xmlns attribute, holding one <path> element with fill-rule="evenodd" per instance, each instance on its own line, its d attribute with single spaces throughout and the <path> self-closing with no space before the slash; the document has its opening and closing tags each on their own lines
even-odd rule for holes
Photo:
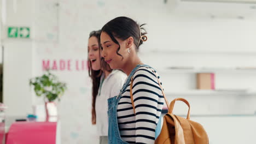
<svg viewBox="0 0 256 144">
<path fill-rule="evenodd" d="M 30 38 L 30 28 L 8 27 L 8 38 Z"/>
</svg>

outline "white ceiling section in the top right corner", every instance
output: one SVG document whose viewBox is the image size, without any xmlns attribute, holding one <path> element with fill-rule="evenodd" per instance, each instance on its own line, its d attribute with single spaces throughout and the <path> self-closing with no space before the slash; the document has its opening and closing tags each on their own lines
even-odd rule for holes
<svg viewBox="0 0 256 144">
<path fill-rule="evenodd" d="M 252 3 L 226 3 L 221 0 L 217 2 L 202 1 L 167 1 L 174 15 L 212 17 L 212 18 L 232 18 L 232 19 L 256 19 L 256 0 L 249 0 Z M 233 0 L 226 0 L 233 1 Z M 246 0 L 241 0 L 246 1 Z"/>
</svg>

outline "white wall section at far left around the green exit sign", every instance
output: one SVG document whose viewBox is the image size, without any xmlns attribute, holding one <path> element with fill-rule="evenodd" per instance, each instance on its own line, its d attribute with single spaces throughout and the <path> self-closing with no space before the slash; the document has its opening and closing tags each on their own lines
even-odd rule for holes
<svg viewBox="0 0 256 144">
<path fill-rule="evenodd" d="M 32 113 L 32 91 L 28 85 L 32 77 L 33 41 L 31 39 L 9 39 L 9 26 L 32 27 L 34 19 L 33 1 L 7 1 L 6 23 L 3 25 L 4 82 L 3 101 L 8 107 L 7 116 L 26 116 Z"/>
</svg>

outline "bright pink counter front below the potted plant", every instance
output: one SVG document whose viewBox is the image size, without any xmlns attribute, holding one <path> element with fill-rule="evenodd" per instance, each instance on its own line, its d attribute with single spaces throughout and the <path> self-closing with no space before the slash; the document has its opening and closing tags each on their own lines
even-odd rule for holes
<svg viewBox="0 0 256 144">
<path fill-rule="evenodd" d="M 14 122 L 6 144 L 55 144 L 57 122 Z"/>
</svg>

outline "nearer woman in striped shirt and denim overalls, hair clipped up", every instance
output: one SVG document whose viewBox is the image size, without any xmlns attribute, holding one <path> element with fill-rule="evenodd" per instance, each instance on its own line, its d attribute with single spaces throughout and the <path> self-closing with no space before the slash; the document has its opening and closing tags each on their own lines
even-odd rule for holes
<svg viewBox="0 0 256 144">
<path fill-rule="evenodd" d="M 142 26 L 129 17 L 117 17 L 101 29 L 101 56 L 110 68 L 128 76 L 119 95 L 108 99 L 108 143 L 154 143 L 161 129 L 160 77 L 137 55 L 147 40 Z"/>
</svg>

